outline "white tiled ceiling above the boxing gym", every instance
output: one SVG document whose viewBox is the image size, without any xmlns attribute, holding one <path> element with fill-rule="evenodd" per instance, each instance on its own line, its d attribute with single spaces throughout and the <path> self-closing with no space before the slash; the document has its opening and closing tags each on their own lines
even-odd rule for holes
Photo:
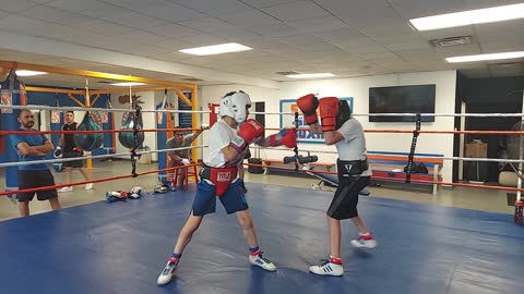
<svg viewBox="0 0 524 294">
<path fill-rule="evenodd" d="M 277 87 L 277 72 L 340 77 L 461 70 L 524 75 L 524 60 L 449 64 L 451 56 L 524 50 L 524 20 L 419 33 L 413 17 L 512 0 L 1 0 L 0 59 L 199 84 Z M 429 40 L 473 36 L 465 46 Z M 253 50 L 194 57 L 179 49 L 240 42 Z M 29 82 L 79 86 L 79 77 Z M 80 79 L 80 81 L 79 81 Z M 96 82 L 93 82 L 96 84 Z"/>
</svg>

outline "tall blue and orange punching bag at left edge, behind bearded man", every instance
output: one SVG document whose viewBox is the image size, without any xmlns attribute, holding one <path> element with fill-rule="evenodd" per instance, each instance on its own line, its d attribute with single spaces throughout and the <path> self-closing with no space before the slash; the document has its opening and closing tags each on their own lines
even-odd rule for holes
<svg viewBox="0 0 524 294">
<path fill-rule="evenodd" d="M 19 81 L 15 70 L 9 72 L 5 81 L 2 82 L 2 89 L 0 90 L 1 101 L 4 106 L 25 106 L 27 105 L 27 98 L 25 96 L 24 84 Z M 1 130 L 2 131 L 17 131 L 20 124 L 17 121 L 19 110 L 2 109 L 1 110 Z M 17 162 L 19 155 L 11 144 L 9 136 L 4 136 L 4 155 L 5 162 Z M 19 189 L 19 167 L 5 168 L 5 191 Z M 16 199 L 16 194 L 8 195 L 11 199 Z"/>
</svg>

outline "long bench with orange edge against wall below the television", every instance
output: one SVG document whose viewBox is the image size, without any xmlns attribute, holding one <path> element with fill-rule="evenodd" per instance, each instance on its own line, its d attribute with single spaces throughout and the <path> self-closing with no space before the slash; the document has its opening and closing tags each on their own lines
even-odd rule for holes
<svg viewBox="0 0 524 294">
<path fill-rule="evenodd" d="M 406 180 L 404 167 L 407 164 L 407 156 L 405 152 L 374 152 L 368 151 L 368 161 L 371 167 L 372 176 L 378 177 L 379 181 L 391 180 L 402 183 Z M 424 163 L 428 169 L 428 173 L 412 172 L 410 179 L 414 181 L 428 181 L 431 183 L 416 183 L 419 185 L 432 185 L 432 194 L 437 195 L 438 184 L 433 182 L 442 182 L 441 171 L 444 160 L 440 158 L 424 158 L 426 157 L 443 157 L 442 155 L 430 154 L 415 154 L 413 160 L 415 163 Z"/>
</svg>

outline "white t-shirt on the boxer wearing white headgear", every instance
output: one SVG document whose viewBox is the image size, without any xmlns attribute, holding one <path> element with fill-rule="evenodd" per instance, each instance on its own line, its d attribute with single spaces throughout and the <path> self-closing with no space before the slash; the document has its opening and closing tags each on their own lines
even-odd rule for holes
<svg viewBox="0 0 524 294">
<path fill-rule="evenodd" d="M 237 136 L 238 131 L 230 127 L 225 121 L 216 122 L 209 131 L 210 144 L 207 158 L 204 164 L 213 168 L 230 168 L 240 164 L 246 156 L 246 150 L 238 154 L 231 161 L 225 160 L 222 149 L 229 146 L 229 143 Z"/>
</svg>

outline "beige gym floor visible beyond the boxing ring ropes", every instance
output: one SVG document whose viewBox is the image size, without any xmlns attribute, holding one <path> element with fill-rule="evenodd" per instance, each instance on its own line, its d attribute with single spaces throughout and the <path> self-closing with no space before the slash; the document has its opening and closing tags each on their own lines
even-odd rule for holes
<svg viewBox="0 0 524 294">
<path fill-rule="evenodd" d="M 157 169 L 156 163 L 138 164 L 139 172 L 154 169 Z M 128 160 L 95 161 L 94 168 L 91 170 L 91 172 L 93 174 L 93 179 L 129 174 L 131 173 L 131 163 Z M 64 181 L 64 172 L 55 173 L 55 182 L 57 184 L 62 184 Z M 73 181 L 83 181 L 83 177 L 79 171 L 73 171 Z M 287 173 L 252 174 L 246 172 L 246 182 L 248 184 L 248 188 L 249 183 L 311 188 L 311 184 L 318 183 L 319 181 L 314 177 L 293 176 Z M 73 207 L 105 200 L 105 194 L 107 191 L 129 191 L 133 186 L 142 186 L 145 191 L 152 191 L 156 184 L 158 184 L 157 175 L 148 174 L 135 179 L 129 177 L 119 181 L 96 183 L 94 185 L 94 189 L 92 191 L 84 191 L 84 186 L 76 186 L 74 187 L 73 192 L 60 193 L 59 198 L 62 207 Z M 0 170 L 0 191 L 4 191 L 4 170 Z M 330 187 L 325 187 L 323 189 L 334 191 Z M 456 187 L 454 189 L 441 188 L 439 189 L 438 195 L 433 196 L 429 192 L 408 191 L 405 187 L 388 188 L 385 186 L 370 186 L 368 189 L 371 192 L 371 197 L 409 200 L 420 204 L 458 207 L 510 215 L 514 212 L 513 206 L 508 205 L 507 193 L 503 191 L 464 187 Z M 252 194 L 249 195 L 257 196 Z M 37 201 L 36 199 L 31 203 L 29 207 L 32 215 L 50 210 L 48 201 Z M 17 217 L 17 209 L 14 203 L 8 199 L 8 197 L 0 197 L 0 220 L 8 220 Z"/>
</svg>

